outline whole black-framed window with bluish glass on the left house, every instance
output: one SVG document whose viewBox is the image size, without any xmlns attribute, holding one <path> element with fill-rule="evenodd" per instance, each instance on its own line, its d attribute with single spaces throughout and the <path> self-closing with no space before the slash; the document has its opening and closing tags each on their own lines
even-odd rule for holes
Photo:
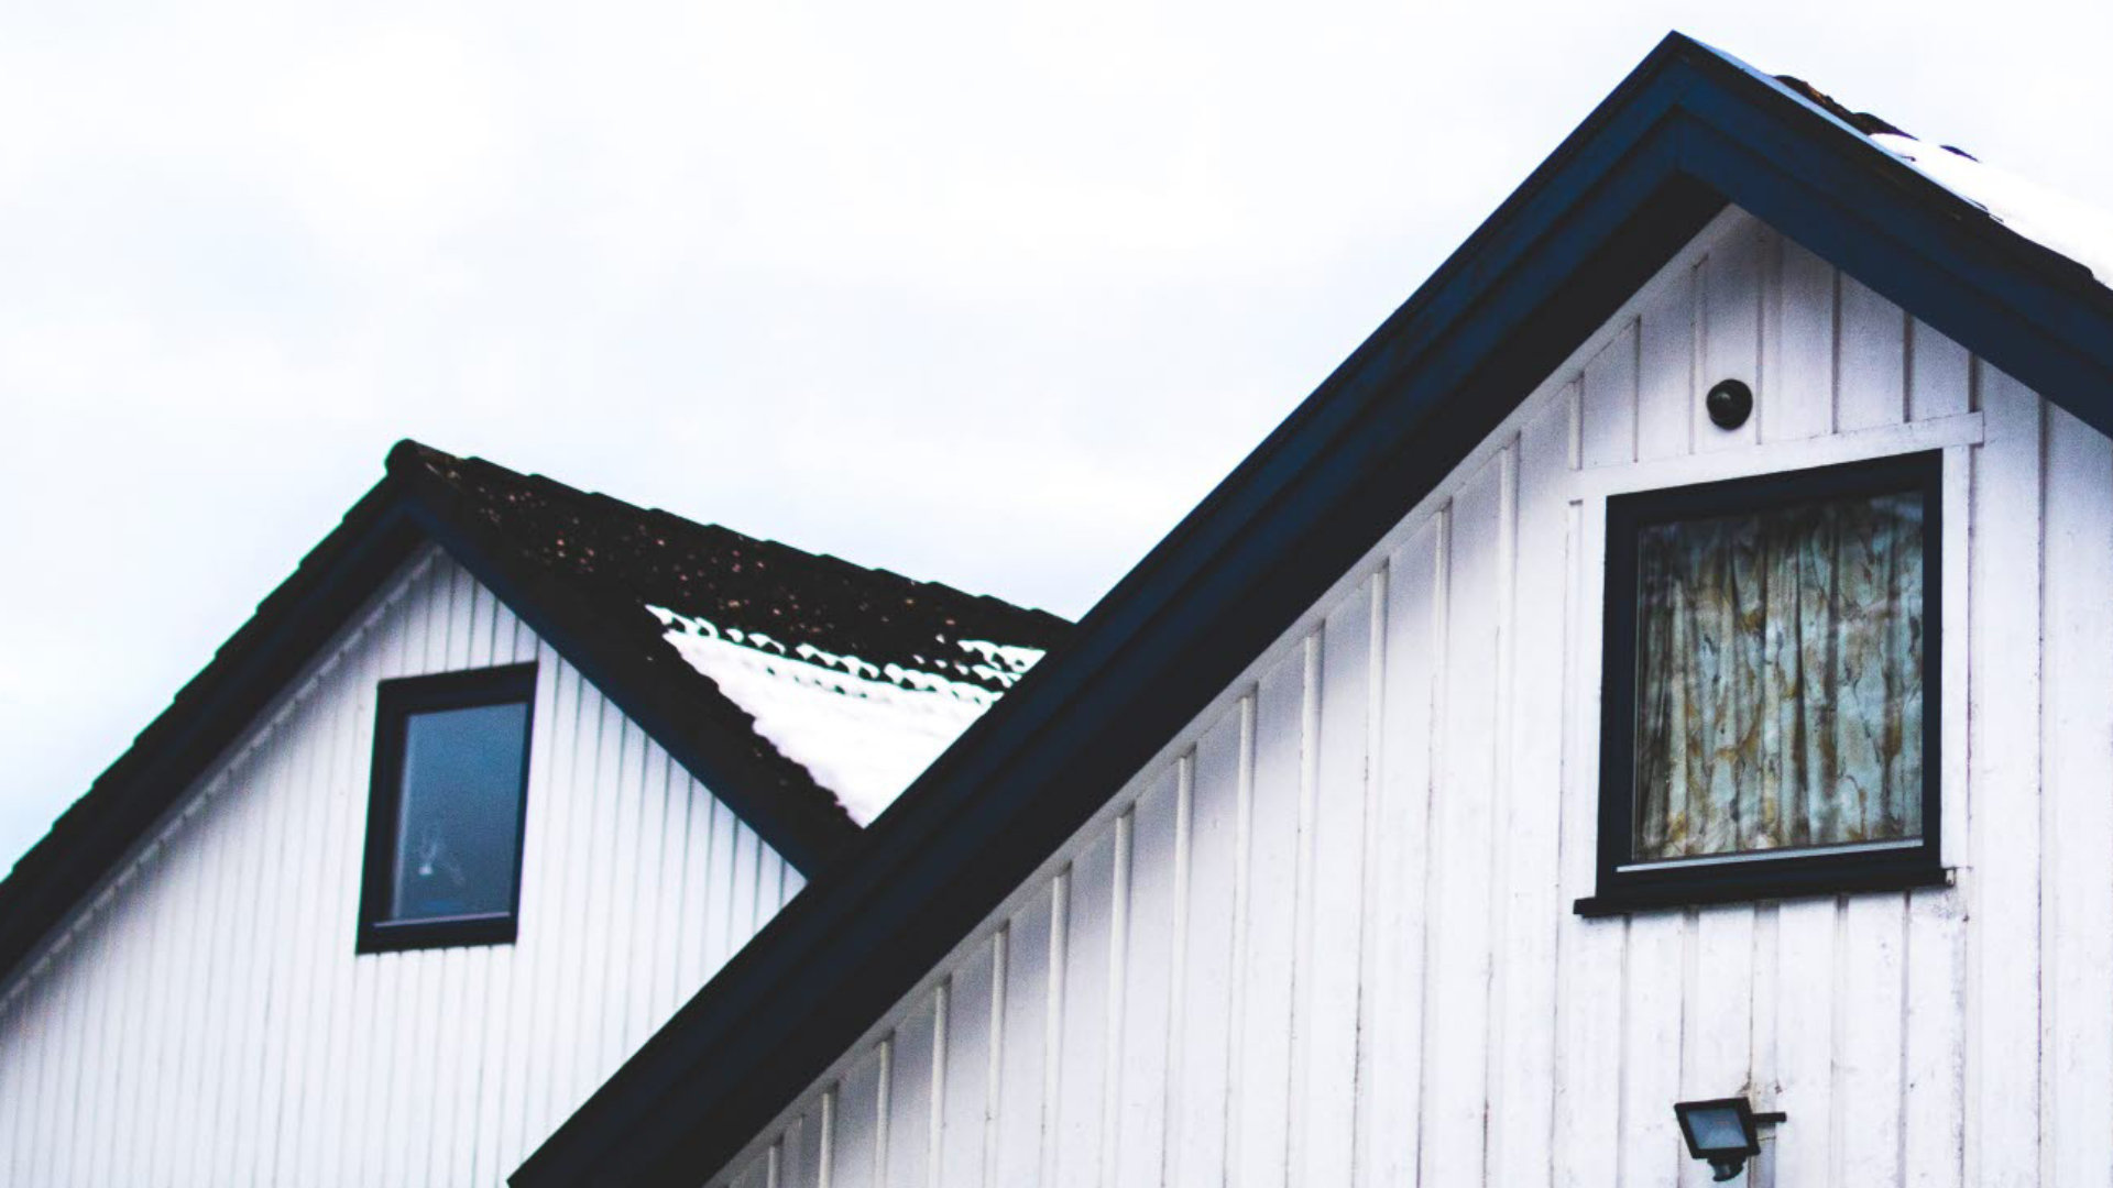
<svg viewBox="0 0 2113 1188">
<path fill-rule="evenodd" d="M 382 681 L 359 951 L 513 941 L 535 666 Z"/>
</svg>

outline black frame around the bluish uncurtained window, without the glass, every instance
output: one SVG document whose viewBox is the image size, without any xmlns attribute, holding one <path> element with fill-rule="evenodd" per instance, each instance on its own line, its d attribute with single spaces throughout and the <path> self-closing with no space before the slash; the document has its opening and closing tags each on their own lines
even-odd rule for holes
<svg viewBox="0 0 2113 1188">
<path fill-rule="evenodd" d="M 374 765 L 368 778 L 368 848 L 359 884 L 357 953 L 397 953 L 461 945 L 511 945 L 518 934 L 522 858 L 528 839 L 528 755 L 535 740 L 537 666 L 507 664 L 397 676 L 376 689 Z M 475 706 L 526 706 L 522 719 L 520 829 L 513 839 L 513 894 L 505 911 L 427 920 L 391 920 L 397 822 L 404 812 L 404 738 L 412 714 Z"/>
</svg>

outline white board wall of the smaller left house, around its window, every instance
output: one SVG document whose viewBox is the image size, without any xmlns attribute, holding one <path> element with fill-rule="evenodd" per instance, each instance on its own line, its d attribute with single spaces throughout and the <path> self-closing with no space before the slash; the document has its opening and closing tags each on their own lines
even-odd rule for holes
<svg viewBox="0 0 2113 1188">
<path fill-rule="evenodd" d="M 376 683 L 526 660 L 520 939 L 353 955 Z M 799 886 L 427 550 L 0 989 L 0 1180 L 497 1186 Z"/>
</svg>

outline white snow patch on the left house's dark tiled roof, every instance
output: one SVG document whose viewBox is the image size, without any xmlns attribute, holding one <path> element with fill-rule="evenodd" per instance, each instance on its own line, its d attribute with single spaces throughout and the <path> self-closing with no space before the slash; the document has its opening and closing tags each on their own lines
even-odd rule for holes
<svg viewBox="0 0 2113 1188">
<path fill-rule="evenodd" d="M 868 664 L 856 655 L 721 628 L 710 619 L 666 607 L 647 607 L 666 628 L 666 641 L 691 668 L 712 679 L 756 719 L 756 734 L 786 759 L 801 763 L 837 795 L 858 824 L 871 824 L 999 693 L 1037 660 L 1042 649 L 959 641 L 961 660 L 938 660 L 978 681 L 902 664 Z M 934 641 L 934 651 L 945 645 Z"/>
</svg>

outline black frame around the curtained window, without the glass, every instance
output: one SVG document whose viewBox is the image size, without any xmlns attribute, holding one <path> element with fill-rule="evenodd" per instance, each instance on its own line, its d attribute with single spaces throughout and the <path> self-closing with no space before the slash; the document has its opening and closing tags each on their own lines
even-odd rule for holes
<svg viewBox="0 0 2113 1188">
<path fill-rule="evenodd" d="M 1923 499 L 1923 837 L 1919 846 L 1635 860 L 1638 537 L 1644 528 L 1769 512 L 1817 499 L 1914 493 Z M 1887 892 L 1946 881 L 1942 860 L 1944 721 L 1944 452 L 1925 450 L 1796 471 L 1667 486 L 1606 501 L 1606 634 L 1600 700 L 1600 841 L 1595 894 L 1578 915 L 1619 915 L 1819 894 Z M 1625 869 L 1627 867 L 1627 869 Z M 1642 869 L 1640 869 L 1642 867 Z"/>
</svg>

